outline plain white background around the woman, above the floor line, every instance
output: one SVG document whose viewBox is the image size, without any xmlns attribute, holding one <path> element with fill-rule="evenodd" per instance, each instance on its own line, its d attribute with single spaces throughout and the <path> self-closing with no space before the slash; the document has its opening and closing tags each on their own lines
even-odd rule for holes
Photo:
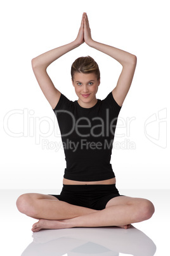
<svg viewBox="0 0 170 256">
<path fill-rule="evenodd" d="M 118 148 L 112 152 L 117 187 L 169 188 L 168 1 L 16 0 L 3 1 L 0 9 L 1 188 L 62 187 L 65 156 L 62 149 L 49 148 L 61 142 L 58 125 L 34 77 L 31 59 L 73 41 L 84 11 L 95 41 L 138 58 L 119 114 Z M 49 76 L 60 92 L 76 100 L 70 67 L 84 55 L 98 62 L 97 98 L 104 99 L 114 89 L 121 65 L 85 43 L 51 64 Z"/>
</svg>

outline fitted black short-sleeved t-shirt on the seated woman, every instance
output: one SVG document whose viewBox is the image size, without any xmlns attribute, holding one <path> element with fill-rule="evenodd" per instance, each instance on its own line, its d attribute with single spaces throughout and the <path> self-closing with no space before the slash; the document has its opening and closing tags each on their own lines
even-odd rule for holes
<svg viewBox="0 0 170 256">
<path fill-rule="evenodd" d="M 82 108 L 61 94 L 53 111 L 65 152 L 64 178 L 100 181 L 115 177 L 110 159 L 120 110 L 112 92 L 92 108 Z"/>
</svg>

